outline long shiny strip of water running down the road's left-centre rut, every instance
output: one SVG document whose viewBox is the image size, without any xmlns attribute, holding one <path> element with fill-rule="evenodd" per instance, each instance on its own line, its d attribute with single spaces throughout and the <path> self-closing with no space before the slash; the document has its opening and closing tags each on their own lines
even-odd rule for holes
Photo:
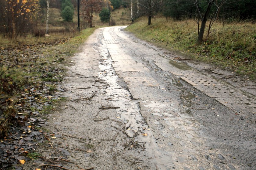
<svg viewBox="0 0 256 170">
<path fill-rule="evenodd" d="M 126 123 L 126 126 L 130 125 L 130 130 L 126 130 L 127 134 L 131 137 L 135 134 L 135 131 L 144 131 L 148 136 L 138 135 L 135 140 L 140 142 L 146 142 L 145 147 L 147 150 L 147 155 L 153 158 L 153 161 L 157 164 L 159 169 L 167 169 L 173 166 L 173 161 L 170 156 L 166 156 L 164 151 L 161 151 L 156 144 L 156 140 L 153 136 L 151 130 L 148 129 L 148 125 L 144 122 L 143 117 L 140 114 L 139 104 L 131 99 L 130 92 L 126 89 L 122 89 L 118 85 L 118 77 L 112 68 L 112 59 L 106 55 L 107 48 L 100 47 L 103 59 L 99 62 L 99 78 L 105 80 L 110 87 L 106 87 L 104 90 L 107 92 L 109 98 L 114 98 L 115 101 L 111 101 L 114 106 L 120 107 L 117 109 L 117 114 L 120 115 L 120 119 Z M 105 74 L 102 74 L 104 72 Z M 153 101 L 148 105 L 148 107 L 165 107 L 165 104 L 154 103 Z M 160 112 L 160 110 L 159 110 Z M 155 122 L 157 123 L 157 122 Z M 159 123 L 159 122 L 158 122 Z"/>
</svg>

